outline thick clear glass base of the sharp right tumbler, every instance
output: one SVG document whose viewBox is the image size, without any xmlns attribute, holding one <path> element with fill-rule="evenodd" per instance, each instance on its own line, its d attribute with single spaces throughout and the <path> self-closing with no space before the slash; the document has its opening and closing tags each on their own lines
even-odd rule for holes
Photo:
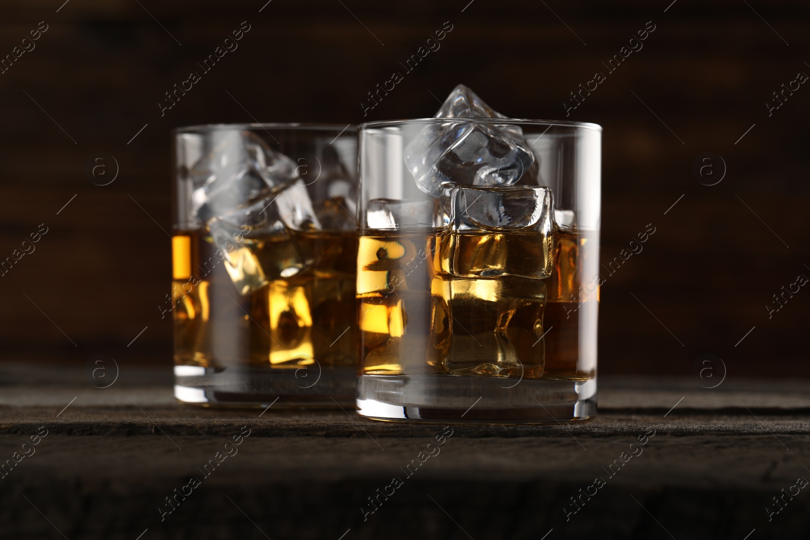
<svg viewBox="0 0 810 540">
<path fill-rule="evenodd" d="M 596 379 L 551 381 L 454 375 L 364 375 L 358 414 L 436 423 L 570 423 L 596 415 Z"/>
</svg>

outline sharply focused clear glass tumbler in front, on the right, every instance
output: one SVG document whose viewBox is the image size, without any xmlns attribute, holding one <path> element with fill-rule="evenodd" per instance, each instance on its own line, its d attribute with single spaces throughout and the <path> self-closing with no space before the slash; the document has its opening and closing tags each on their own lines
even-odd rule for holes
<svg viewBox="0 0 810 540">
<path fill-rule="evenodd" d="M 599 125 L 360 125 L 360 415 L 556 423 L 596 411 Z"/>
</svg>

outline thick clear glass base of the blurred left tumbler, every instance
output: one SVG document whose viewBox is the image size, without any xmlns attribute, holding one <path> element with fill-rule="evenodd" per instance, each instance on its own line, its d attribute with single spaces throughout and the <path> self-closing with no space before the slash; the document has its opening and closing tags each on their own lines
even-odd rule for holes
<svg viewBox="0 0 810 540">
<path fill-rule="evenodd" d="M 354 409 L 356 369 L 174 367 L 174 397 L 202 406 Z"/>
</svg>

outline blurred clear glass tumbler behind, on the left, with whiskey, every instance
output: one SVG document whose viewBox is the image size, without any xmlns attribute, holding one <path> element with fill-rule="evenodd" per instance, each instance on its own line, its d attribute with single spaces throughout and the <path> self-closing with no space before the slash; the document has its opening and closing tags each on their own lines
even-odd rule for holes
<svg viewBox="0 0 810 540">
<path fill-rule="evenodd" d="M 175 396 L 354 405 L 356 130 L 174 132 Z"/>
</svg>

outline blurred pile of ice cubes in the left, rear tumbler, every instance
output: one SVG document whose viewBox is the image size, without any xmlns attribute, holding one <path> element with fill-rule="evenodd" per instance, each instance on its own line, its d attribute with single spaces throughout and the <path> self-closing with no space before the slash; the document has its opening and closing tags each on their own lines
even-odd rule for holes
<svg viewBox="0 0 810 540">
<path fill-rule="evenodd" d="M 336 156 L 318 159 L 318 178 L 305 181 L 295 160 L 257 134 L 215 130 L 211 139 L 211 152 L 190 168 L 192 213 L 206 224 L 242 295 L 311 264 L 291 232 L 356 227 L 354 187 Z M 307 185 L 318 180 L 328 193 L 313 206 Z M 266 245 L 271 256 L 257 257 Z"/>
</svg>

